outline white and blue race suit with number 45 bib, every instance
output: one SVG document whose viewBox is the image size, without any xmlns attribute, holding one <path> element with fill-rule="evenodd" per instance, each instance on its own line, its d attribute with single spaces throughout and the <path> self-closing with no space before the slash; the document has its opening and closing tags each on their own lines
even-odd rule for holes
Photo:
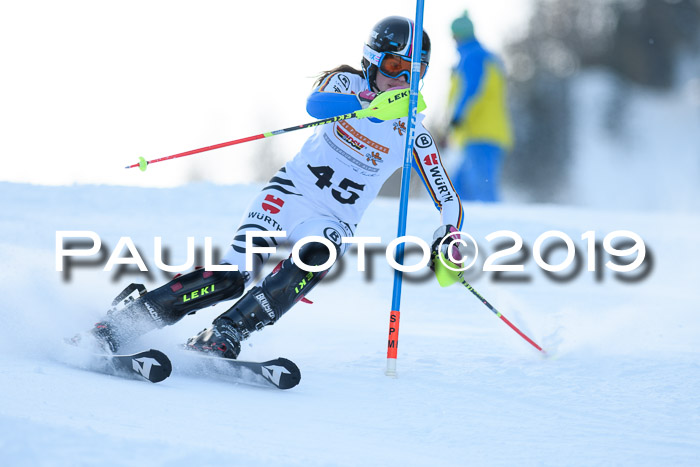
<svg viewBox="0 0 700 467">
<path fill-rule="evenodd" d="M 311 93 L 307 110 L 328 118 L 361 109 L 357 95 L 367 90 L 365 80 L 352 73 L 333 73 Z M 413 167 L 420 174 L 441 223 L 462 226 L 463 211 L 437 146 L 417 115 Z M 339 255 L 384 182 L 403 165 L 407 117 L 380 121 L 347 119 L 316 128 L 299 153 L 275 174 L 250 205 L 223 262 L 245 269 L 245 234 L 251 230 L 284 230 L 288 243 L 324 236 Z M 257 246 L 276 246 L 281 239 L 257 238 Z M 269 254 L 254 256 L 249 281 Z M 247 285 L 247 284 L 246 284 Z"/>
</svg>

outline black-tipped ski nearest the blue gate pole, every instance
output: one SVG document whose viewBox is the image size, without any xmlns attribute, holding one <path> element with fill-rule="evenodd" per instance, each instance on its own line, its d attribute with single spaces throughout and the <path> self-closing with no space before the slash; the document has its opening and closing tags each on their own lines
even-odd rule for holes
<svg viewBox="0 0 700 467">
<path fill-rule="evenodd" d="M 276 358 L 265 362 L 249 362 L 206 355 L 193 350 L 183 350 L 186 367 L 177 368 L 195 376 L 212 376 L 257 386 L 291 389 L 301 381 L 301 371 L 291 360 Z"/>
</svg>

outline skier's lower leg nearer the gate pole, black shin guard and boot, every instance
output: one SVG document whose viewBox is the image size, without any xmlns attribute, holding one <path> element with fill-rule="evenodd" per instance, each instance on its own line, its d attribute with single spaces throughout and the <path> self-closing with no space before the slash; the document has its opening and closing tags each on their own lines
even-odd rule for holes
<svg viewBox="0 0 700 467">
<path fill-rule="evenodd" d="M 317 266 L 329 258 L 321 243 L 307 243 L 299 250 L 304 264 Z M 251 288 L 235 305 L 214 320 L 212 326 L 187 341 L 186 348 L 236 358 L 241 341 L 254 331 L 274 324 L 313 289 L 328 272 L 307 272 L 287 258 L 262 282 Z M 233 357 L 231 357 L 233 355 Z"/>
</svg>

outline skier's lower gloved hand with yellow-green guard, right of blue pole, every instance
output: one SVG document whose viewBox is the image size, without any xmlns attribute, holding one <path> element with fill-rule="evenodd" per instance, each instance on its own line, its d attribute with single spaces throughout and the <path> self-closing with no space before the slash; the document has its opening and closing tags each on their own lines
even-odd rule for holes
<svg viewBox="0 0 700 467">
<path fill-rule="evenodd" d="M 466 259 L 466 244 L 459 235 L 459 230 L 447 224 L 438 227 L 433 234 L 430 269 L 441 287 L 447 287 L 461 279 L 458 270 Z M 456 271 L 454 269 L 457 269 Z"/>
</svg>

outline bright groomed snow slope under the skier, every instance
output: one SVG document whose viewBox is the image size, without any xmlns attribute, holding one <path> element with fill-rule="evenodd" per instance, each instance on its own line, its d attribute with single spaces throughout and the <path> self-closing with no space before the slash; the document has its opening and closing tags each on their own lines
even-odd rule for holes
<svg viewBox="0 0 700 467">
<path fill-rule="evenodd" d="M 0 183 L 2 465 L 700 464 L 695 214 L 466 204 L 465 230 L 486 251 L 484 237 L 503 229 L 529 246 L 561 230 L 581 251 L 586 231 L 602 240 L 627 229 L 652 252 L 651 273 L 632 283 L 609 270 L 596 281 L 585 268 L 557 283 L 531 257 L 529 282 L 475 278 L 548 359 L 466 289 L 405 282 L 399 376 L 385 376 L 393 276 L 375 258 L 374 278 L 365 281 L 349 254 L 340 279 L 310 294 L 313 305 L 299 304 L 244 345 L 246 359 L 295 361 L 302 381 L 292 390 L 177 368 L 149 384 L 71 365 L 63 337 L 91 326 L 129 282 L 154 287 L 164 275 L 113 280 L 104 258 L 67 280 L 55 268 L 57 230 L 94 231 L 107 254 L 129 236 L 150 266 L 153 238 L 162 236 L 178 264 L 188 236 L 227 247 L 258 189 Z M 387 244 L 397 204 L 379 199 L 358 235 Z M 438 224 L 432 205 L 411 201 L 409 234 L 428 239 Z M 174 351 L 225 309 L 202 310 L 132 348 Z"/>
</svg>

